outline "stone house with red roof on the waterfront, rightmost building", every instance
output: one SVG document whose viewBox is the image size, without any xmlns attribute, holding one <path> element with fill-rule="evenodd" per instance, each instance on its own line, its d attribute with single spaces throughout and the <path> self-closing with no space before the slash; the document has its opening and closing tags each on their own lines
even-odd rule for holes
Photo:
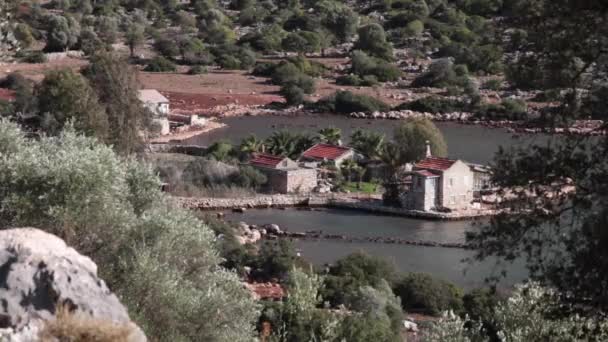
<svg viewBox="0 0 608 342">
<path fill-rule="evenodd" d="M 455 159 L 427 156 L 413 165 L 411 185 L 402 199 L 405 208 L 453 211 L 472 208 L 475 173 Z"/>
</svg>

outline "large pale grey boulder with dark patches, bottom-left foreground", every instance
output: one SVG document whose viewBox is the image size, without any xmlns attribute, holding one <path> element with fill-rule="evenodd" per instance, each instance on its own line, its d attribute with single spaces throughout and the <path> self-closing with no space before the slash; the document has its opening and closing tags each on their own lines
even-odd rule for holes
<svg viewBox="0 0 608 342">
<path fill-rule="evenodd" d="M 38 340 L 31 338 L 64 311 L 98 326 L 127 327 L 123 341 L 146 340 L 97 265 L 35 228 L 0 231 L 0 303 L 0 336 L 9 341 Z"/>
</svg>

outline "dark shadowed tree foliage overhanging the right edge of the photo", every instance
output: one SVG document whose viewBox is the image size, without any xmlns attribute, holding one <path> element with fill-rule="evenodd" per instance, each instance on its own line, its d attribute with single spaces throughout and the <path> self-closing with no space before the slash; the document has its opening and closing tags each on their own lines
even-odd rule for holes
<svg viewBox="0 0 608 342">
<path fill-rule="evenodd" d="M 605 1 L 516 1 L 508 22 L 524 34 L 510 67 L 530 70 L 534 86 L 566 87 L 561 103 L 545 111 L 545 125 L 582 117 L 580 91 L 602 82 L 608 66 Z M 571 62 L 580 68 L 570 68 Z M 563 71 L 570 75 L 563 77 Z M 561 75 L 561 76 L 560 76 Z M 548 79 L 547 77 L 551 77 Z M 557 77 L 558 79 L 553 79 Z M 511 80 L 513 82 L 513 80 Z M 605 129 L 605 117 L 602 129 Z M 477 259 L 526 261 L 530 275 L 568 294 L 590 314 L 608 310 L 608 140 L 578 136 L 502 150 L 493 182 L 513 200 L 467 240 Z"/>
</svg>

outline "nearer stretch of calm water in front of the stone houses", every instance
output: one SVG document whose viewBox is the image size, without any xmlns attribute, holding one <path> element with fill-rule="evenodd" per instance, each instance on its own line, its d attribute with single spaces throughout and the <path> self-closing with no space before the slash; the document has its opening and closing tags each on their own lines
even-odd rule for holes
<svg viewBox="0 0 608 342">
<path fill-rule="evenodd" d="M 350 210 L 327 209 L 305 211 L 297 209 L 248 210 L 244 214 L 227 213 L 233 222 L 250 224 L 276 223 L 289 231 L 323 230 L 347 236 L 392 236 L 411 240 L 462 242 L 464 233 L 477 229 L 476 221 L 424 221 L 402 217 L 379 216 Z M 403 272 L 426 272 L 452 281 L 465 288 L 479 287 L 492 274 L 494 262 L 465 263 L 472 252 L 453 248 L 433 248 L 343 241 L 298 241 L 302 256 L 317 264 L 333 262 L 355 251 L 386 258 Z M 501 286 L 525 279 L 521 264 L 509 267 L 508 277 Z"/>
</svg>

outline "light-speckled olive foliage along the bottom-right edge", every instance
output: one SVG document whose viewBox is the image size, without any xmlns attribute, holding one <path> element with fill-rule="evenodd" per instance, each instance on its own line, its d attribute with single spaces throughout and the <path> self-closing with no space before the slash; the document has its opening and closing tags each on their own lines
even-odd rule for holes
<svg viewBox="0 0 608 342">
<path fill-rule="evenodd" d="M 506 301 L 493 312 L 493 324 L 498 332 L 491 339 L 480 322 L 452 312 L 444 313 L 423 335 L 423 341 L 445 342 L 526 342 L 526 341 L 605 341 L 608 321 L 593 320 L 576 314 L 556 317 L 559 305 L 556 292 L 538 283 L 518 285 Z M 591 338 L 591 339 L 590 339 Z"/>
</svg>

